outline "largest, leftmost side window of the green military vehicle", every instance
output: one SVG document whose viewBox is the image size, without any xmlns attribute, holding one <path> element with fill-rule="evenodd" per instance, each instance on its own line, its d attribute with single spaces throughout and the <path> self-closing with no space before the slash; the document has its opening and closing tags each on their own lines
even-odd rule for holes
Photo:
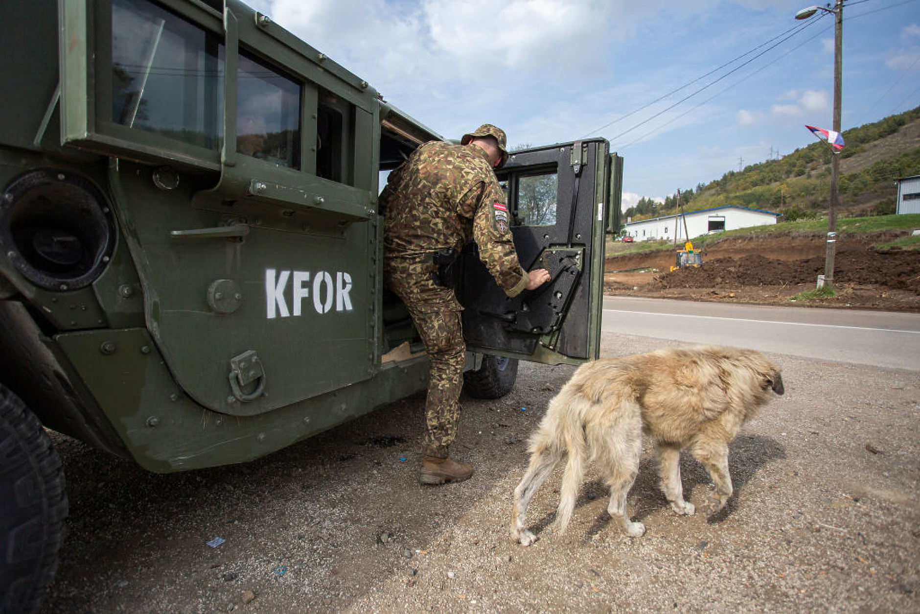
<svg viewBox="0 0 920 614">
<path fill-rule="evenodd" d="M 146 0 L 113 0 L 111 119 L 219 149 L 224 136 L 224 44 Z"/>
</svg>

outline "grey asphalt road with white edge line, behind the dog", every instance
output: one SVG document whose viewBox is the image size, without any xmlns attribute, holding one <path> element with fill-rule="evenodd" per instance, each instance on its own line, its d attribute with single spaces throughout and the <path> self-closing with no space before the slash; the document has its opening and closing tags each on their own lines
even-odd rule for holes
<svg viewBox="0 0 920 614">
<path fill-rule="evenodd" d="M 604 331 L 920 371 L 920 314 L 604 298 Z"/>
</svg>

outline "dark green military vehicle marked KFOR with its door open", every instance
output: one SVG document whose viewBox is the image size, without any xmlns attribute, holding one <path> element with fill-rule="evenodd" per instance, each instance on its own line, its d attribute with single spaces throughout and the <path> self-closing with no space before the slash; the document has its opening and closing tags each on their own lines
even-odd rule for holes
<svg viewBox="0 0 920 614">
<path fill-rule="evenodd" d="M 442 137 L 236 0 L 4 2 L 0 32 L 0 607 L 28 611 L 67 515 L 45 428 L 180 471 L 426 387 L 377 194 Z M 553 277 L 509 299 L 459 256 L 470 394 L 596 357 L 608 149 L 501 169 L 522 263 Z"/>
</svg>

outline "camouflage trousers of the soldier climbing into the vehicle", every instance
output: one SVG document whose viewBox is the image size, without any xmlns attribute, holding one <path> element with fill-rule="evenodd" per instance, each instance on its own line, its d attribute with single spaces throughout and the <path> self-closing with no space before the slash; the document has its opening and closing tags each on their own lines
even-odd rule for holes
<svg viewBox="0 0 920 614">
<path fill-rule="evenodd" d="M 434 284 L 433 270 L 430 258 L 388 258 L 384 261 L 384 283 L 408 308 L 431 363 L 422 451 L 447 458 L 460 422 L 466 343 L 460 319 L 462 307 L 453 289 Z"/>
</svg>

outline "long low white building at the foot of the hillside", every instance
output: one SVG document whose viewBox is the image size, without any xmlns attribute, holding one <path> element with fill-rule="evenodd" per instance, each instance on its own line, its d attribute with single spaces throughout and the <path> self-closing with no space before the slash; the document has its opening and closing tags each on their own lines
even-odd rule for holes
<svg viewBox="0 0 920 614">
<path fill-rule="evenodd" d="M 648 241 L 653 238 L 685 241 L 688 238 L 700 237 L 719 230 L 776 224 L 777 217 L 779 214 L 771 211 L 728 204 L 713 209 L 688 211 L 680 215 L 665 215 L 650 220 L 627 222 L 626 229 L 627 235 L 637 241 Z M 684 224 L 686 225 L 685 231 Z"/>
</svg>

